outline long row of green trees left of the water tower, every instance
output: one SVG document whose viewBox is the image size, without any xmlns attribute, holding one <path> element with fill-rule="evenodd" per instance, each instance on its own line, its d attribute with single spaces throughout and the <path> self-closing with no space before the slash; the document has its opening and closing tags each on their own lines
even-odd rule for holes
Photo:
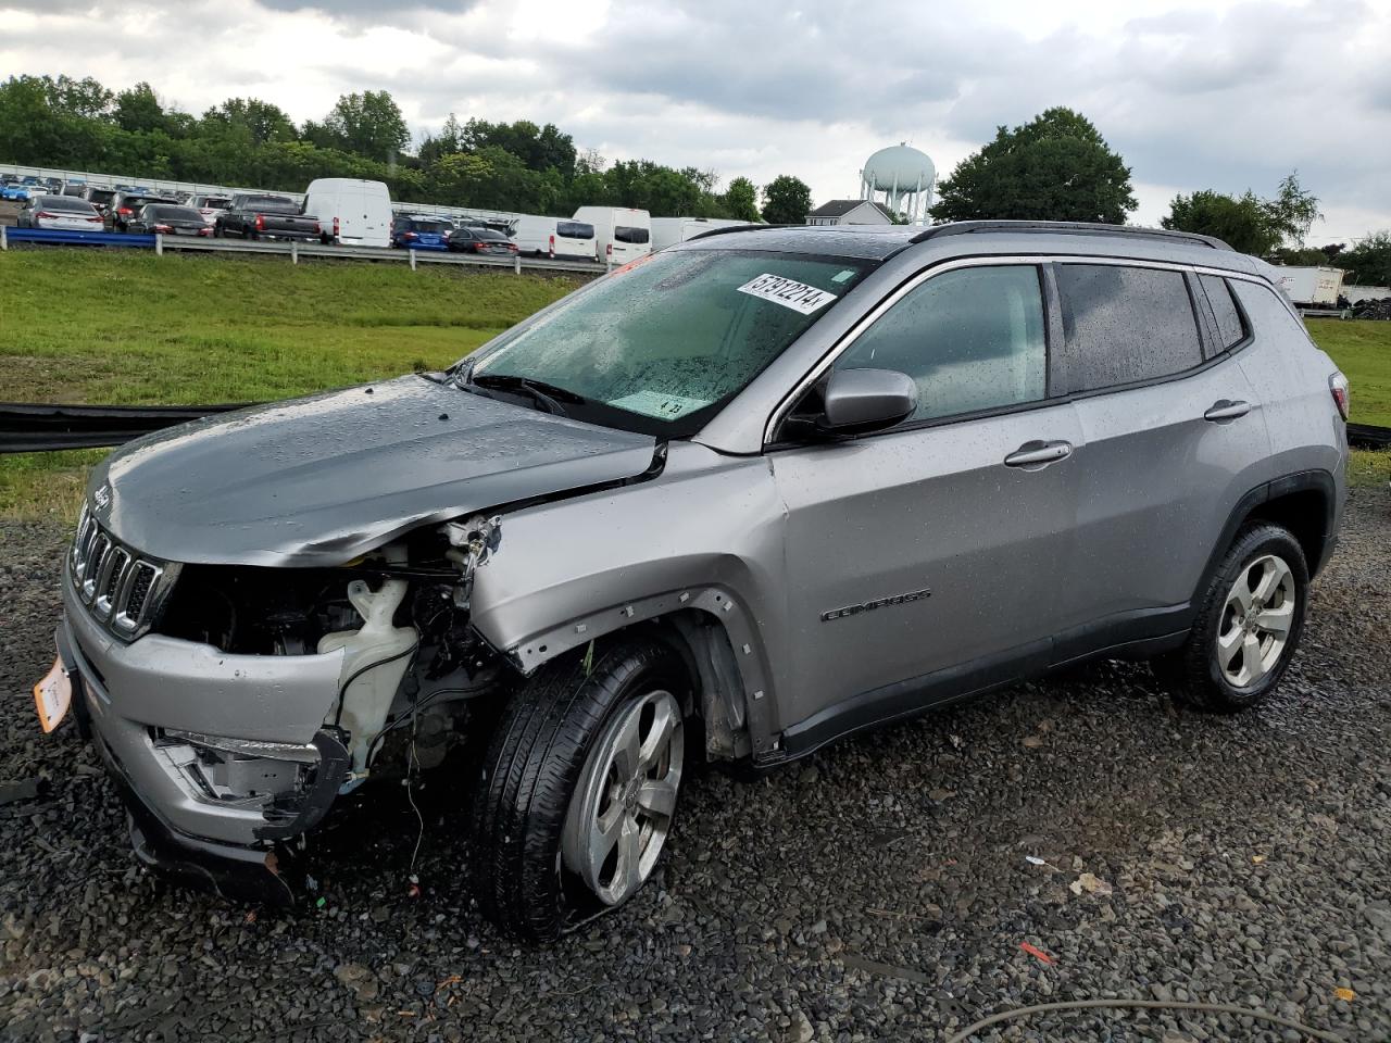
<svg viewBox="0 0 1391 1043">
<path fill-rule="evenodd" d="M 139 179 L 302 192 L 314 178 L 384 181 L 392 199 L 565 217 L 579 206 L 632 206 L 657 217 L 801 223 L 811 192 L 783 175 L 759 189 L 736 177 L 651 160 L 608 163 L 554 124 L 465 122 L 451 114 L 412 150 L 385 90 L 344 95 L 296 125 L 278 106 L 231 97 L 202 115 L 164 104 L 149 83 L 11 76 L 0 83 L 0 160 Z"/>
</svg>

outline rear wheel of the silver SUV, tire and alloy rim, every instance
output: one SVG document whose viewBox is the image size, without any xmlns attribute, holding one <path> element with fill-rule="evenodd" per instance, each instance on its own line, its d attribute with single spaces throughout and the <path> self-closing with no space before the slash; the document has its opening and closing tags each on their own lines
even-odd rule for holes
<svg viewBox="0 0 1391 1043">
<path fill-rule="evenodd" d="M 1209 580 L 1187 642 L 1156 661 L 1156 673 L 1198 709 L 1249 709 L 1289 668 L 1308 601 L 1299 541 L 1280 526 L 1251 524 Z"/>
</svg>

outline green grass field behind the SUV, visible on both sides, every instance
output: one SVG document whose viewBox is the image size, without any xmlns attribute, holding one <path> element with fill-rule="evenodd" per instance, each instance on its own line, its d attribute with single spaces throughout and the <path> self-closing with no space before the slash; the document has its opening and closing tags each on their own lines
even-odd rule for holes
<svg viewBox="0 0 1391 1043">
<path fill-rule="evenodd" d="M 0 401 L 255 402 L 448 366 L 566 278 L 281 257 L 0 253 Z M 1352 419 L 1391 427 L 1391 323 L 1313 320 Z M 103 451 L 0 456 L 0 517 L 72 517 Z M 1391 478 L 1356 453 L 1355 481 Z"/>
</svg>

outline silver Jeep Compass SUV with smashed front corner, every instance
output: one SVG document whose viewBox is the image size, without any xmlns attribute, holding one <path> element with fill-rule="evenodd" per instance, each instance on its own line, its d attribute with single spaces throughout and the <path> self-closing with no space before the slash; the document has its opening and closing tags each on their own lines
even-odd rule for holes
<svg viewBox="0 0 1391 1043">
<path fill-rule="evenodd" d="M 483 907 L 551 937 L 643 886 L 698 761 L 1095 656 L 1260 701 L 1334 545 L 1346 394 L 1213 239 L 708 234 L 449 371 L 113 453 L 50 687 L 152 865 L 292 893 L 339 794 L 441 768 Z"/>
</svg>

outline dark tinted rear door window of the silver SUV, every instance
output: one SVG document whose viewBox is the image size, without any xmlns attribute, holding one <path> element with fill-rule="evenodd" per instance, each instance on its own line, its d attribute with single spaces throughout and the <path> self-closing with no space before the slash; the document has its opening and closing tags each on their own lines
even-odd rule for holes
<svg viewBox="0 0 1391 1043">
<path fill-rule="evenodd" d="M 1056 271 L 1068 391 L 1156 380 L 1202 363 L 1181 271 L 1125 264 L 1059 264 Z"/>
</svg>

